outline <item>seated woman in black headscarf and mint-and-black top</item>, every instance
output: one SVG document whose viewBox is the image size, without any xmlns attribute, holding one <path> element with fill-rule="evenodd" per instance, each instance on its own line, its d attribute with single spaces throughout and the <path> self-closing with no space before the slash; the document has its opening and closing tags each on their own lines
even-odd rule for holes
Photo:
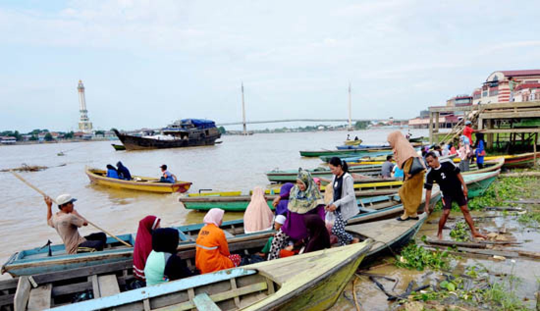
<svg viewBox="0 0 540 311">
<path fill-rule="evenodd" d="M 147 286 L 193 275 L 176 254 L 178 241 L 178 230 L 175 228 L 159 228 L 152 232 L 152 251 L 144 267 Z"/>
</svg>

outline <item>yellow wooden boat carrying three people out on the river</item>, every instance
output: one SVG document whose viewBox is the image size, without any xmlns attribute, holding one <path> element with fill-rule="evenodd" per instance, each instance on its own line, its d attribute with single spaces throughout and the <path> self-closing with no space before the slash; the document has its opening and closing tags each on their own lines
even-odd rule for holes
<svg viewBox="0 0 540 311">
<path fill-rule="evenodd" d="M 158 182 L 158 178 L 143 176 L 133 176 L 133 180 L 110 178 L 106 177 L 105 171 L 90 167 L 86 167 L 85 172 L 92 184 L 125 190 L 156 193 L 183 193 L 189 190 L 192 185 L 192 183 L 189 181 L 177 181 L 174 184 L 168 184 L 167 182 Z"/>
</svg>

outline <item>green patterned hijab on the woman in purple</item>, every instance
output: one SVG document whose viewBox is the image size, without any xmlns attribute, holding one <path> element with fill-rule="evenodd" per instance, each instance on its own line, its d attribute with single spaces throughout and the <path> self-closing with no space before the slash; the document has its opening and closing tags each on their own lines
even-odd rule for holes
<svg viewBox="0 0 540 311">
<path fill-rule="evenodd" d="M 308 171 L 299 168 L 296 179 L 302 181 L 303 184 L 306 185 L 306 191 L 300 191 L 298 185 L 294 185 L 291 189 L 291 194 L 289 195 L 289 205 L 287 206 L 289 211 L 305 214 L 319 204 L 325 204 L 322 200 L 319 187 L 317 187 Z"/>
</svg>

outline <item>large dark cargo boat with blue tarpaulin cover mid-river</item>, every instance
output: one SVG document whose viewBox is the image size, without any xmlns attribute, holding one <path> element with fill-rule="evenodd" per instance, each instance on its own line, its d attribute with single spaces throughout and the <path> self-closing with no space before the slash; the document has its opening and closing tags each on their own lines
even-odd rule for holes
<svg viewBox="0 0 540 311">
<path fill-rule="evenodd" d="M 182 119 L 168 125 L 160 134 L 135 136 L 122 134 L 113 129 L 126 150 L 146 150 L 161 148 L 179 148 L 194 146 L 211 146 L 221 137 L 212 120 Z"/>
</svg>

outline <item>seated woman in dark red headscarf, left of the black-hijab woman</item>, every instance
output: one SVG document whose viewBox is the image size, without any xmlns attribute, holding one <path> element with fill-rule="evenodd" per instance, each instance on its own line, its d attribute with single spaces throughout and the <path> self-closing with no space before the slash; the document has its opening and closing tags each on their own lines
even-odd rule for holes
<svg viewBox="0 0 540 311">
<path fill-rule="evenodd" d="M 133 248 L 133 275 L 140 281 L 145 281 L 144 267 L 146 259 L 152 252 L 152 231 L 159 228 L 160 219 L 149 215 L 139 221 L 139 229 Z"/>
</svg>

